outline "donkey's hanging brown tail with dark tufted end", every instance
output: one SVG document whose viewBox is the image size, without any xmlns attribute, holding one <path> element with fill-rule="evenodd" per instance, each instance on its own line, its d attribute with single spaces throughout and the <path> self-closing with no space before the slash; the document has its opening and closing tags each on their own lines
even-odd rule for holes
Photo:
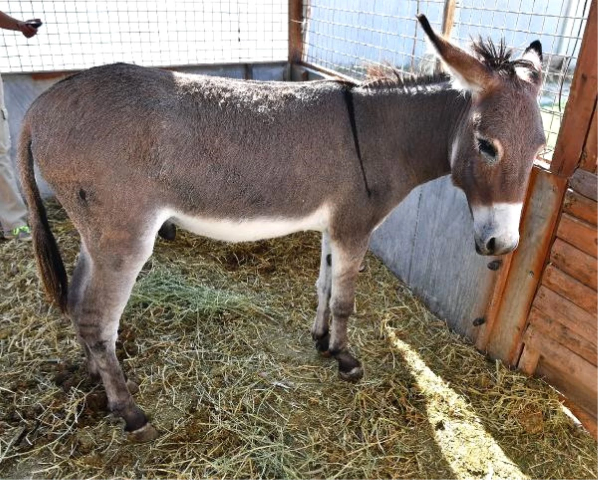
<svg viewBox="0 0 598 480">
<path fill-rule="evenodd" d="M 56 302 L 63 313 L 66 313 L 68 280 L 65 264 L 62 262 L 56 239 L 54 239 L 50 230 L 44 203 L 35 182 L 33 154 L 31 152 L 31 130 L 27 120 L 23 122 L 17 150 L 17 170 L 23 196 L 29 209 L 33 252 L 37 260 L 39 274 L 50 299 Z"/>
</svg>

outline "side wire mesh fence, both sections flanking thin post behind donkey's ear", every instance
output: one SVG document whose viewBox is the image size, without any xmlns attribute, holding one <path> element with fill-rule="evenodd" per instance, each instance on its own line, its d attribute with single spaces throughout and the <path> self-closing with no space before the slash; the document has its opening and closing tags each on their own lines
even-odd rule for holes
<svg viewBox="0 0 598 480">
<path fill-rule="evenodd" d="M 390 64 L 405 74 L 434 65 L 415 15 L 425 13 L 438 31 L 445 0 L 307 0 L 304 61 L 353 78 Z M 451 38 L 461 45 L 482 36 L 505 39 L 515 56 L 535 39 L 544 50 L 541 111 L 550 161 L 581 45 L 588 0 L 458 0 Z"/>
</svg>

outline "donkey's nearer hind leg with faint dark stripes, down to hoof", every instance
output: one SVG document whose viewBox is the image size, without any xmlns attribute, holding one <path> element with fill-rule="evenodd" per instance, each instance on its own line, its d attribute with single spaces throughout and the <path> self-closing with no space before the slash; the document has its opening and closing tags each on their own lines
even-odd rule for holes
<svg viewBox="0 0 598 480">
<path fill-rule="evenodd" d="M 116 357 L 116 340 L 120 316 L 137 274 L 151 255 L 153 241 L 153 236 L 146 235 L 144 240 L 121 239 L 90 246 L 89 256 L 81 267 L 86 279 L 79 286 L 78 301 L 74 300 L 71 307 L 77 335 L 85 345 L 91 365 L 102 377 L 108 408 L 124 418 L 125 429 L 135 441 L 152 440 L 157 431 L 127 388 Z"/>
</svg>

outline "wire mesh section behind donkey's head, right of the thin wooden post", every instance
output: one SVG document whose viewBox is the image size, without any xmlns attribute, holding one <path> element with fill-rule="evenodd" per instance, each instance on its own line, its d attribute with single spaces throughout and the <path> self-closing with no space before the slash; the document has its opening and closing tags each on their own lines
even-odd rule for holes
<svg viewBox="0 0 598 480">
<path fill-rule="evenodd" d="M 504 38 L 517 56 L 530 42 L 542 42 L 540 106 L 547 146 L 541 157 L 545 161 L 554 152 L 589 7 L 587 0 L 460 0 L 455 11 L 451 38 L 461 44 L 480 35 L 496 42 Z"/>
</svg>

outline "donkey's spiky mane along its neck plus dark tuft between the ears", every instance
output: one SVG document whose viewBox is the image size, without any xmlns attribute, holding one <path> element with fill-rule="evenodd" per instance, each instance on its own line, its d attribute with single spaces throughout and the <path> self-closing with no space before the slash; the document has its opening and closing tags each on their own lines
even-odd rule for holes
<svg viewBox="0 0 598 480">
<path fill-rule="evenodd" d="M 512 59 L 513 50 L 507 48 L 504 39 L 496 45 L 492 39 L 478 38 L 472 42 L 472 54 L 477 57 L 489 69 L 499 75 L 517 80 L 517 68 L 526 68 L 530 74 L 538 75 L 535 66 L 529 60 Z M 368 88 L 392 88 L 392 87 L 417 87 L 420 85 L 430 85 L 450 80 L 450 75 L 444 72 L 413 75 L 401 71 L 401 69 L 390 65 L 376 65 L 368 68 L 367 77 L 361 83 L 363 87 Z"/>
</svg>

